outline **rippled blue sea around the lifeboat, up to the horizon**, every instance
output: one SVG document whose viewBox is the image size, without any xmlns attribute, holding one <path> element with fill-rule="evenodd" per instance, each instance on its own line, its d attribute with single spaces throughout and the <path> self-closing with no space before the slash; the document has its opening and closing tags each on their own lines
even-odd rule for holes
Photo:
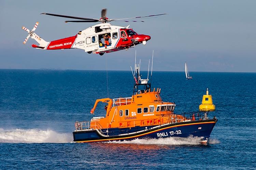
<svg viewBox="0 0 256 170">
<path fill-rule="evenodd" d="M 96 99 L 132 95 L 131 72 L 2 69 L 0 169 L 255 169 L 256 73 L 190 74 L 153 72 L 152 87 L 177 114 L 198 111 L 209 88 L 218 122 L 207 146 L 193 137 L 74 143 L 74 122 L 91 119 Z"/>
</svg>

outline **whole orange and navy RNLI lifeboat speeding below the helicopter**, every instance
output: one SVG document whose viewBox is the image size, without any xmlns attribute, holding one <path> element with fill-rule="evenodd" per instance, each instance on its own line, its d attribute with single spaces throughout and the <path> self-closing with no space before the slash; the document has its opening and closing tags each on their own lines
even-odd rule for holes
<svg viewBox="0 0 256 170">
<path fill-rule="evenodd" d="M 149 72 L 149 69 L 148 69 Z M 73 132 L 76 142 L 131 140 L 136 138 L 163 138 L 198 136 L 207 141 L 217 119 L 209 119 L 208 112 L 176 114 L 176 104 L 163 101 L 160 88 L 151 88 L 149 79 L 141 79 L 136 65 L 133 94 L 126 98 L 97 99 L 91 114 L 99 102 L 106 103 L 105 116 L 94 117 L 88 122 L 78 122 Z"/>
</svg>

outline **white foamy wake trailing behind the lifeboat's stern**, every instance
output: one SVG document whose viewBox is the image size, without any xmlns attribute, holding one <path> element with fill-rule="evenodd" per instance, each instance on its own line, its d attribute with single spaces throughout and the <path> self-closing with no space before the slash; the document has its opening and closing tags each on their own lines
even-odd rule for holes
<svg viewBox="0 0 256 170">
<path fill-rule="evenodd" d="M 71 141 L 71 134 L 57 133 L 53 130 L 0 129 L 1 143 L 67 143 Z"/>
</svg>

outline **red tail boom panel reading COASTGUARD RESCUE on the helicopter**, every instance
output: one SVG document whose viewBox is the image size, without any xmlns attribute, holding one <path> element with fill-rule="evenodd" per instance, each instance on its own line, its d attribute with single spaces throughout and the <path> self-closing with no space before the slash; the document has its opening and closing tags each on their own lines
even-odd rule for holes
<svg viewBox="0 0 256 170">
<path fill-rule="evenodd" d="M 77 35 L 51 41 L 46 50 L 70 49 Z"/>
</svg>

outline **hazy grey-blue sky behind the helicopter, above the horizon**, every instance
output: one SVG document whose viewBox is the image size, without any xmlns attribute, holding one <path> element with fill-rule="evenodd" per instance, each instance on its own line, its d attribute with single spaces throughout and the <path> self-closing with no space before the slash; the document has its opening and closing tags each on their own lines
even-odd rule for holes
<svg viewBox="0 0 256 170">
<path fill-rule="evenodd" d="M 256 1 L 253 0 L 175 0 L 175 1 L 12 1 L 0 0 L 0 68 L 129 70 L 137 50 L 142 69 L 155 51 L 154 70 L 256 72 Z M 146 46 L 99 56 L 83 50 L 38 50 L 22 26 L 47 41 L 73 36 L 91 23 L 65 23 L 65 18 L 39 15 L 42 12 L 99 18 L 108 8 L 109 18 L 168 13 L 130 24 L 136 32 L 151 35 Z"/>
</svg>

